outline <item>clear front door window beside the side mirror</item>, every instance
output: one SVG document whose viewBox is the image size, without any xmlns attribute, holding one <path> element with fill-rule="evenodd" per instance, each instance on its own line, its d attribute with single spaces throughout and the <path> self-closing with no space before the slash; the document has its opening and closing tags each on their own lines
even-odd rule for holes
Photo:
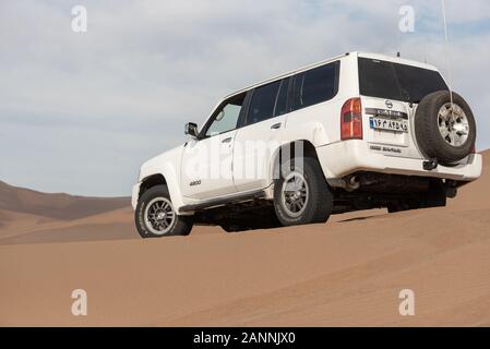
<svg viewBox="0 0 490 349">
<path fill-rule="evenodd" d="M 234 96 L 216 110 L 212 119 L 213 121 L 207 127 L 205 137 L 225 133 L 237 128 L 244 96 L 244 94 Z"/>
</svg>

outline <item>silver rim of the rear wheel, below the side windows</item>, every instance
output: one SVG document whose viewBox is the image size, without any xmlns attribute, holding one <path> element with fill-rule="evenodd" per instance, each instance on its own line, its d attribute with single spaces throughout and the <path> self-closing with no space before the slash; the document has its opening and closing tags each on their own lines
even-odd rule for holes
<svg viewBox="0 0 490 349">
<path fill-rule="evenodd" d="M 299 172 L 289 173 L 280 191 L 280 204 L 286 213 L 291 217 L 299 217 L 304 212 L 310 195 L 308 183 Z"/>
</svg>

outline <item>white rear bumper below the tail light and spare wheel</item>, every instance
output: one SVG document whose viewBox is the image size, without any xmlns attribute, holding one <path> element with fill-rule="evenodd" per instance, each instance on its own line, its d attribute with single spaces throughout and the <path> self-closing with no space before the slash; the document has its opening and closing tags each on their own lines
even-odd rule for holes
<svg viewBox="0 0 490 349">
<path fill-rule="evenodd" d="M 482 158 L 480 154 L 468 157 L 467 164 L 454 167 L 439 165 L 435 169 L 423 169 L 425 159 L 404 158 L 373 153 L 369 143 L 361 140 L 338 142 L 316 148 L 323 172 L 327 179 L 342 178 L 358 171 L 445 178 L 473 181 L 480 177 Z"/>
</svg>

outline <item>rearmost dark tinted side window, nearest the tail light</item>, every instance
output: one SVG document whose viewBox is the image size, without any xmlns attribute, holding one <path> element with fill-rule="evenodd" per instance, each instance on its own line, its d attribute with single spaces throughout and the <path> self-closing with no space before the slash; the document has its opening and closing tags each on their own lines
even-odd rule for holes
<svg viewBox="0 0 490 349">
<path fill-rule="evenodd" d="M 338 68 L 337 61 L 296 75 L 292 109 L 332 99 L 338 91 Z"/>
</svg>

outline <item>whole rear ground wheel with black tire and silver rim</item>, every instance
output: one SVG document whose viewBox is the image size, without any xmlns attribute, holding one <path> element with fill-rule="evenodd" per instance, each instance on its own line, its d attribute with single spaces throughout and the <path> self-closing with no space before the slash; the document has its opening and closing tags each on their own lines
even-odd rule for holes
<svg viewBox="0 0 490 349">
<path fill-rule="evenodd" d="M 295 158 L 283 165 L 274 183 L 274 208 L 284 226 L 325 222 L 334 196 L 316 159 Z"/>
</svg>

